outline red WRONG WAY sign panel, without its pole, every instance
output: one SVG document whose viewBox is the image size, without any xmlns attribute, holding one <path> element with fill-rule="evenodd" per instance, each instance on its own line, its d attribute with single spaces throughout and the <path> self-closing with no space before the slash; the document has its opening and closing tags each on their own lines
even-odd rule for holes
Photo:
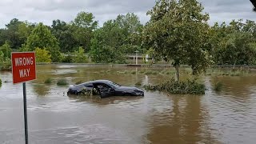
<svg viewBox="0 0 256 144">
<path fill-rule="evenodd" d="M 11 53 L 13 83 L 27 82 L 36 79 L 35 53 Z"/>
</svg>

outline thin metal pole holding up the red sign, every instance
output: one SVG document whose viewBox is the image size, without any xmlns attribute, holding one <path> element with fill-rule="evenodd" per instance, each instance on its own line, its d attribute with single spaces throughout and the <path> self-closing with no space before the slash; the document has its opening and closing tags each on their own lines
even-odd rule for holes
<svg viewBox="0 0 256 144">
<path fill-rule="evenodd" d="M 28 127 L 27 127 L 27 111 L 26 111 L 26 82 L 23 82 L 23 106 L 24 106 L 24 123 L 25 123 L 25 142 L 29 143 Z"/>
</svg>

